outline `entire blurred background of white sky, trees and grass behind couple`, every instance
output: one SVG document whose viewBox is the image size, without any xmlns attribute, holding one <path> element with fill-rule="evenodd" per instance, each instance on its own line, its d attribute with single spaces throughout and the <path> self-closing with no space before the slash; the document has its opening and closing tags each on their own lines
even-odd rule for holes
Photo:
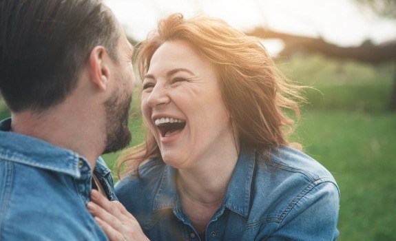
<svg viewBox="0 0 396 241">
<path fill-rule="evenodd" d="M 291 138 L 340 186 L 339 240 L 396 240 L 396 0 L 105 3 L 132 43 L 173 12 L 208 14 L 260 37 L 291 81 L 315 88 L 304 92 L 309 103 Z M 138 96 L 136 88 L 131 145 L 143 140 Z M 116 179 L 120 153 L 103 156 Z"/>
</svg>

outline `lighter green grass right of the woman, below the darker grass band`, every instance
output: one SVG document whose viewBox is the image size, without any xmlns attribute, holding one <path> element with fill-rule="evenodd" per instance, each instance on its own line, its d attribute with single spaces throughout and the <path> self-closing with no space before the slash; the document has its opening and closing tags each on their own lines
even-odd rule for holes
<svg viewBox="0 0 396 241">
<path fill-rule="evenodd" d="M 341 191 L 339 240 L 395 240 L 396 114 L 309 110 L 297 129 Z"/>
</svg>

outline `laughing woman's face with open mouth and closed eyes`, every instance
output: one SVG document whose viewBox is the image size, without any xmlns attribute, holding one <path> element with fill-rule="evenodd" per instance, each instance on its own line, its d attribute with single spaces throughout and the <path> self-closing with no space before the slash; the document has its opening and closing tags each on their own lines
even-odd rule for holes
<svg viewBox="0 0 396 241">
<path fill-rule="evenodd" d="M 235 149 L 216 72 L 185 41 L 156 50 L 143 79 L 141 107 L 169 165 L 191 168 Z"/>
</svg>

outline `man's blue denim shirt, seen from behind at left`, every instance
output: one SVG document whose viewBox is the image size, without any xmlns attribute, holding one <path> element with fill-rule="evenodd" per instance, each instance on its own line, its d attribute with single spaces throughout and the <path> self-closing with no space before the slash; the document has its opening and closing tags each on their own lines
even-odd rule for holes
<svg viewBox="0 0 396 241">
<path fill-rule="evenodd" d="M 92 169 L 83 156 L 10 132 L 0 122 L 0 240 L 107 240 L 87 211 Z M 94 173 L 116 200 L 110 169 Z"/>
</svg>

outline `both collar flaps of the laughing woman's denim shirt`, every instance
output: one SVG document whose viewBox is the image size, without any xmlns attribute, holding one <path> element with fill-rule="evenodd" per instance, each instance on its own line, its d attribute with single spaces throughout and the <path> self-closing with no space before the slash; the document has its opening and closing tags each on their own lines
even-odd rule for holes
<svg viewBox="0 0 396 241">
<path fill-rule="evenodd" d="M 240 156 L 233 171 L 233 175 L 223 205 L 231 211 L 247 217 L 251 195 L 256 154 L 254 151 L 241 149 Z M 178 191 L 176 187 L 177 170 L 165 165 L 160 187 L 154 197 L 154 211 L 158 209 L 174 208 L 178 205 Z M 242 190 L 242 191 L 241 191 Z M 179 208 L 179 207 L 178 207 Z"/>
</svg>

